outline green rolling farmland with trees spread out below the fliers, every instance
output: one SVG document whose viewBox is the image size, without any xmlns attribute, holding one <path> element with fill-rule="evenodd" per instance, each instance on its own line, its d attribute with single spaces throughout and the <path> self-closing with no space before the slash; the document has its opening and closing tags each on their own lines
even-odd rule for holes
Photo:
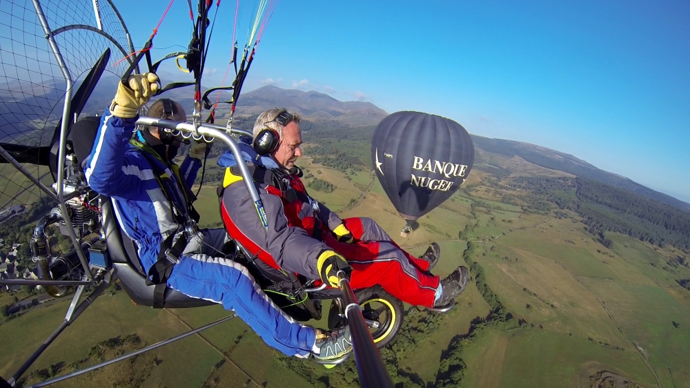
<svg viewBox="0 0 690 388">
<path fill-rule="evenodd" d="M 373 127 L 347 128 L 306 125 L 306 155 L 298 164 L 311 194 L 342 217 L 372 217 L 415 255 L 439 242 L 435 272 L 442 277 L 459 265 L 472 273 L 450 313 L 406 306 L 400 336 L 382 351 L 398 387 L 690 388 L 686 213 L 607 183 L 607 177 L 602 182 L 536 156 L 530 161 L 525 155 L 538 153 L 532 148 L 502 151 L 480 140 L 476 168 L 464 186 L 401 237 L 405 222 L 370 171 Z M 553 155 L 582 171 L 593 168 Z M 206 226 L 220 222 L 213 184 L 220 173 L 210 160 L 197 202 Z M 9 300 L 0 293 L 0 301 Z M 43 342 L 68 304 L 0 318 L 0 376 L 12 374 Z M 138 307 L 113 287 L 39 358 L 22 384 L 225 314 L 217 306 Z M 324 369 L 284 358 L 234 319 L 58 386 L 101 385 L 356 387 L 357 374 L 353 360 Z"/>
</svg>

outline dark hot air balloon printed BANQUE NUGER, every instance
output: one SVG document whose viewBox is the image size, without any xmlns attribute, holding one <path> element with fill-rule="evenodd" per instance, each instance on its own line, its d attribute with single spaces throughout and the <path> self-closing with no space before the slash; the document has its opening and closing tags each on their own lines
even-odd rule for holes
<svg viewBox="0 0 690 388">
<path fill-rule="evenodd" d="M 395 209 L 415 220 L 447 200 L 466 180 L 474 145 L 465 128 L 451 119 L 420 112 L 385 117 L 371 139 L 371 160 Z"/>
</svg>

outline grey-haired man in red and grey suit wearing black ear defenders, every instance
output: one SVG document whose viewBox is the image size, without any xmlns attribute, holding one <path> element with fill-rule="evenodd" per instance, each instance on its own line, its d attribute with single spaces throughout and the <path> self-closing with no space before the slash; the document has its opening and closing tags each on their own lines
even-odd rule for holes
<svg viewBox="0 0 690 388">
<path fill-rule="evenodd" d="M 402 250 L 371 218 L 341 220 L 310 197 L 295 160 L 302 156 L 300 117 L 285 109 L 259 115 L 251 139 L 240 148 L 266 212 L 268 233 L 242 182 L 232 153 L 219 158 L 226 168 L 221 215 L 230 237 L 264 262 L 337 287 L 338 269 L 351 266 L 354 289 L 380 284 L 410 304 L 444 307 L 464 291 L 468 273 L 458 267 L 444 280 L 430 273 L 440 257 L 433 243 L 421 258 Z M 258 151 L 258 153 L 257 153 Z"/>
</svg>

